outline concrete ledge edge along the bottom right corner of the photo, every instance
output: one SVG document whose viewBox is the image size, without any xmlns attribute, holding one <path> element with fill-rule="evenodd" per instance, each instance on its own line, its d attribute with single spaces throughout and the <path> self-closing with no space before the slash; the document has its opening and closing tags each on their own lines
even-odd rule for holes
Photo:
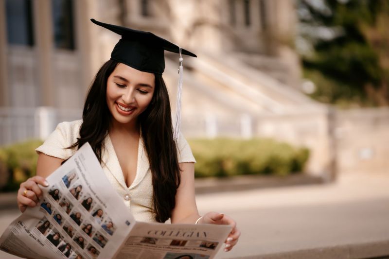
<svg viewBox="0 0 389 259">
<path fill-rule="evenodd" d="M 389 259 L 389 240 L 318 247 L 237 259 Z"/>
</svg>

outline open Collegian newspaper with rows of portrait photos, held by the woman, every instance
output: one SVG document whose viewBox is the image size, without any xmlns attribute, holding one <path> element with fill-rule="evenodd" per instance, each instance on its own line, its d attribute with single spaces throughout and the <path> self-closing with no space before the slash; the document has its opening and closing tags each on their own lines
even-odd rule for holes
<svg viewBox="0 0 389 259">
<path fill-rule="evenodd" d="M 136 222 L 87 143 L 47 179 L 0 249 L 29 259 L 212 259 L 231 227 Z"/>
</svg>

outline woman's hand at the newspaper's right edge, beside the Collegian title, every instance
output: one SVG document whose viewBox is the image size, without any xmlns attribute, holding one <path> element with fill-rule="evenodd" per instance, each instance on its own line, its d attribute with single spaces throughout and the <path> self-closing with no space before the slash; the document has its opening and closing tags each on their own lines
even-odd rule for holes
<svg viewBox="0 0 389 259">
<path fill-rule="evenodd" d="M 231 219 L 229 216 L 224 215 L 223 213 L 217 212 L 208 212 L 203 216 L 199 222 L 200 224 L 219 224 L 219 225 L 231 225 L 232 230 L 228 235 L 226 241 L 226 247 L 224 248 L 225 252 L 228 252 L 232 247 L 238 242 L 240 231 L 236 227 L 236 222 Z"/>
</svg>

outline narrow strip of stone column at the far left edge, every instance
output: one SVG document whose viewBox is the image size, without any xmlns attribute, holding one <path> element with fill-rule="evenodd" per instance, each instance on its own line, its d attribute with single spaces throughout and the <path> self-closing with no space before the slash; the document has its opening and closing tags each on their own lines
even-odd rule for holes
<svg viewBox="0 0 389 259">
<path fill-rule="evenodd" d="M 0 107 L 9 105 L 5 0 L 0 0 Z"/>
</svg>

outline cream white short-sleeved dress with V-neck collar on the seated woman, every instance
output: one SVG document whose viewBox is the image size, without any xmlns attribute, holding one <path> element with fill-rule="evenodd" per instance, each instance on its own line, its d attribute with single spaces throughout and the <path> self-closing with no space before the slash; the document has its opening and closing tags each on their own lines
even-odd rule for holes
<svg viewBox="0 0 389 259">
<path fill-rule="evenodd" d="M 75 143 L 77 138 L 80 137 L 81 123 L 82 120 L 59 123 L 53 133 L 35 151 L 38 154 L 41 152 L 61 159 L 68 159 L 76 149 L 66 148 Z M 137 221 L 154 222 L 150 165 L 142 138 L 139 139 L 137 172 L 130 187 L 125 184 L 124 175 L 109 135 L 107 135 L 104 143 L 102 167 L 109 182 L 123 198 L 124 204 L 131 210 Z M 195 162 L 192 150 L 182 135 L 179 136 L 177 141 L 177 154 L 180 163 Z"/>
</svg>

